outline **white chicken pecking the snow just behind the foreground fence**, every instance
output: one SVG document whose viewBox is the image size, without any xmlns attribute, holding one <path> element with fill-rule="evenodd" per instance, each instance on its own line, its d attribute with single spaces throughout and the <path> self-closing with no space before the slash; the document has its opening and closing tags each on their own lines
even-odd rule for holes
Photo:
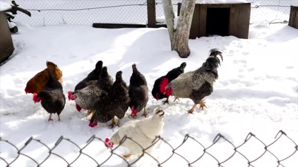
<svg viewBox="0 0 298 167">
<path fill-rule="evenodd" d="M 105 139 L 105 142 L 109 146 L 113 147 L 114 144 L 119 145 L 120 141 L 126 135 L 141 145 L 143 148 L 147 148 L 152 145 L 152 142 L 156 136 L 162 134 L 164 127 L 164 114 L 165 112 L 163 109 L 155 108 L 151 117 L 126 123 L 111 137 L 111 139 Z M 143 153 L 142 148 L 135 142 L 126 139 L 124 143 L 121 144 L 121 146 L 124 146 L 130 150 L 129 154 L 124 155 L 125 158 L 128 158 L 131 155 Z M 153 147 L 154 146 L 150 147 L 149 150 L 151 150 Z"/>
</svg>

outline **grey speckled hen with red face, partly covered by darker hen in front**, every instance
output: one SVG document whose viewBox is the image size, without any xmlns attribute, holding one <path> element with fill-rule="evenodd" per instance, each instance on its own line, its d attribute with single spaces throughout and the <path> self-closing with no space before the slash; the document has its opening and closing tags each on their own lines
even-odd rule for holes
<svg viewBox="0 0 298 167">
<path fill-rule="evenodd" d="M 95 105 L 99 102 L 100 98 L 108 94 L 112 85 L 113 79 L 108 74 L 107 67 L 104 66 L 96 83 L 83 89 L 75 90 L 69 99 L 75 100 L 78 111 L 80 111 L 81 108 L 89 110 L 90 112 L 87 112 L 87 115 L 89 115 L 94 112 Z"/>
</svg>

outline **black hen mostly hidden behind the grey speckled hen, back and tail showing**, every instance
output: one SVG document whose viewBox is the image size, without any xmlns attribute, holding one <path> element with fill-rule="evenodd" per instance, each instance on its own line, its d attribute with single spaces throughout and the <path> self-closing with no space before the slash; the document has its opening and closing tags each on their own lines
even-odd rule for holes
<svg viewBox="0 0 298 167">
<path fill-rule="evenodd" d="M 82 81 L 75 85 L 75 90 L 79 90 L 96 83 L 96 81 L 99 79 L 99 75 L 101 74 L 101 69 L 102 61 L 98 61 L 95 65 L 95 69 L 92 70 L 86 78 L 84 78 Z"/>
</svg>

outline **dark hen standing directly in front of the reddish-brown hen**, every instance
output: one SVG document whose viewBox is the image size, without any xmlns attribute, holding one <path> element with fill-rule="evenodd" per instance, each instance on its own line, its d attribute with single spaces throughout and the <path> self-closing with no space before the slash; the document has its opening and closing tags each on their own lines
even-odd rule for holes
<svg viewBox="0 0 298 167">
<path fill-rule="evenodd" d="M 49 121 L 52 114 L 57 113 L 58 121 L 60 121 L 60 113 L 65 106 L 65 96 L 63 94 L 62 85 L 55 79 L 51 71 L 48 70 L 49 80 L 44 90 L 38 94 L 33 94 L 33 101 L 38 103 L 41 101 L 42 107 L 50 113 Z"/>
</svg>

